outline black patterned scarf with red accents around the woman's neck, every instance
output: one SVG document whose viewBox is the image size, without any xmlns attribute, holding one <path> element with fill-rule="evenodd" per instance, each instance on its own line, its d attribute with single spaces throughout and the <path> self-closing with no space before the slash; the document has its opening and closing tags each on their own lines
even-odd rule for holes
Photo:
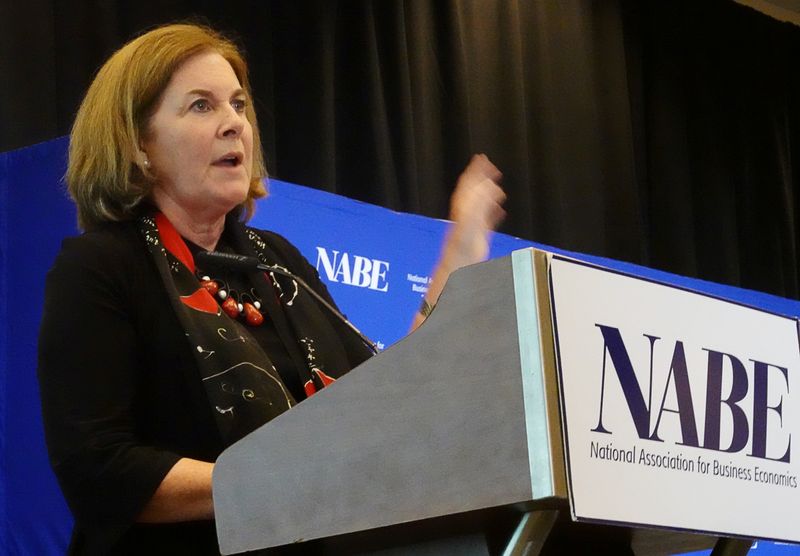
<svg viewBox="0 0 800 556">
<path fill-rule="evenodd" d="M 268 354 L 247 328 L 221 310 L 200 285 L 191 251 L 162 214 L 144 216 L 140 231 L 197 362 L 223 441 L 230 445 L 297 403 Z M 230 216 L 226 237 L 234 251 L 285 268 L 265 238 Z M 287 269 L 292 270 L 292 269 Z M 296 271 L 296 270 L 295 270 Z M 300 372 L 306 395 L 327 386 L 370 354 L 348 357 L 336 327 L 319 304 L 289 278 L 247 275 Z"/>
</svg>

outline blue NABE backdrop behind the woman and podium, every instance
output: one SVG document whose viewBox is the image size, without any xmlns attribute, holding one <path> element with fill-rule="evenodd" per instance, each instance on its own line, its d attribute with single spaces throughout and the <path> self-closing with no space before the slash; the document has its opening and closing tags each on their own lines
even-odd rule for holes
<svg viewBox="0 0 800 556">
<path fill-rule="evenodd" d="M 75 210 L 62 182 L 66 147 L 62 138 L 0 154 L 3 554 L 62 554 L 71 528 L 69 511 L 47 461 L 35 372 L 45 273 L 61 240 L 78 233 Z M 297 245 L 317 267 L 342 311 L 379 347 L 401 338 L 419 306 L 447 223 L 275 180 L 269 189 L 270 196 L 259 202 L 253 225 L 283 234 Z M 534 245 L 496 234 L 491 256 Z M 567 254 L 776 313 L 800 315 L 796 301 Z M 760 543 L 752 552 L 800 554 L 800 549 Z"/>
</svg>

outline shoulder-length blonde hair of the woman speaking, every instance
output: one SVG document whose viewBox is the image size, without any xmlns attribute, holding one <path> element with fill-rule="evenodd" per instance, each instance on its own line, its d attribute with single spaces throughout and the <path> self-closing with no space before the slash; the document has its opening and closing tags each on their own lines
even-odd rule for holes
<svg viewBox="0 0 800 556">
<path fill-rule="evenodd" d="M 252 99 L 247 64 L 229 39 L 202 25 L 173 24 L 149 31 L 120 48 L 100 68 L 81 103 L 69 143 L 67 188 L 83 229 L 130 220 L 150 197 L 152 175 L 140 166 L 140 145 L 172 74 L 191 56 L 219 53 Z M 247 219 L 255 199 L 266 195 L 266 168 L 253 103 L 245 108 L 253 128 L 253 167 L 247 200 L 239 208 Z"/>
</svg>

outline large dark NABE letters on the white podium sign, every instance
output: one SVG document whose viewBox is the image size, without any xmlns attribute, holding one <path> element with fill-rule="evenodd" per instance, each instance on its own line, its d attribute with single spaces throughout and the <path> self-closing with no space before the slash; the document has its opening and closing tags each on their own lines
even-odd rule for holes
<svg viewBox="0 0 800 556">
<path fill-rule="evenodd" d="M 673 414 L 679 420 L 681 431 L 680 439 L 671 439 L 676 444 L 729 453 L 740 452 L 749 444 L 748 456 L 789 463 L 792 438 L 784 431 L 783 422 L 783 404 L 789 395 L 789 369 L 756 359 L 742 361 L 730 353 L 704 347 L 701 351 L 705 355 L 705 372 L 701 374 L 688 367 L 684 342 L 666 343 L 650 334 L 628 340 L 643 341 L 648 345 L 649 360 L 633 361 L 619 329 L 604 324 L 595 326 L 603 337 L 603 361 L 599 415 L 592 432 L 612 433 L 614 426 L 603 421 L 604 400 L 608 395 L 606 389 L 616 382 L 622 389 L 627 414 L 640 439 L 663 442 L 659 436 L 662 418 L 665 414 Z M 661 353 L 657 355 L 659 351 Z M 664 365 L 667 369 L 666 380 L 661 384 L 654 383 L 654 365 Z M 649 384 L 640 384 L 635 369 L 648 368 Z M 725 389 L 723 382 L 729 384 Z M 692 390 L 703 386 L 706 395 L 702 405 L 705 407 L 704 411 L 698 412 Z M 677 407 L 667 406 L 669 391 L 674 393 Z M 648 400 L 645 399 L 646 392 Z M 752 394 L 752 399 L 745 404 L 748 393 Z M 728 413 L 732 427 L 727 446 L 720 445 L 723 411 Z M 772 419 L 768 419 L 770 414 Z M 704 425 L 702 439 L 698 435 L 698 421 Z M 768 427 L 768 421 L 772 423 L 771 427 Z M 768 433 L 771 439 L 778 435 L 770 442 L 773 451 L 769 454 Z M 779 449 L 775 450 L 775 446 Z"/>
</svg>

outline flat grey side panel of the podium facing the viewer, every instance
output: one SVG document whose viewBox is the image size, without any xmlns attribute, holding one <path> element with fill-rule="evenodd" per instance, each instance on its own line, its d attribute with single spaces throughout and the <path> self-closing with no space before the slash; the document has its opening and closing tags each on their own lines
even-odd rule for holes
<svg viewBox="0 0 800 556">
<path fill-rule="evenodd" d="M 530 500 L 518 338 L 511 258 L 454 273 L 416 332 L 223 453 L 223 553 Z"/>
</svg>

